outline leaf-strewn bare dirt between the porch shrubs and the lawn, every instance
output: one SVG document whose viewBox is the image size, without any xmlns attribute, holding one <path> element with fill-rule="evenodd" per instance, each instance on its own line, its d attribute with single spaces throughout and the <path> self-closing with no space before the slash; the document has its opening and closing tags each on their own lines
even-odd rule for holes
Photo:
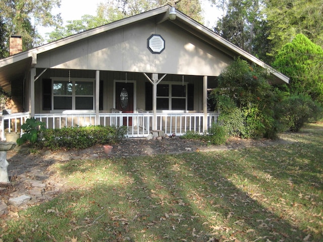
<svg viewBox="0 0 323 242">
<path fill-rule="evenodd" d="M 7 153 L 9 162 L 8 174 L 11 178 L 9 186 L 0 186 L 0 206 L 6 207 L 3 217 L 9 218 L 19 209 L 34 206 L 56 197 L 68 189 L 68 181 L 60 177 L 51 165 L 58 162 L 77 159 L 105 159 L 109 157 L 131 157 L 140 155 L 178 154 L 184 152 L 207 152 L 216 150 L 243 149 L 263 147 L 294 142 L 291 135 L 285 134 L 278 140 L 242 140 L 230 139 L 226 145 L 209 145 L 201 141 L 185 140 L 178 137 L 162 140 L 124 139 L 113 145 L 111 154 L 105 154 L 102 146 L 84 150 L 41 150 L 30 153 L 26 146 L 16 147 Z M 45 185 L 40 187 L 40 185 Z M 31 200 L 21 206 L 12 206 L 10 198 L 22 195 Z M 0 211 L 1 212 L 1 211 Z"/>
</svg>

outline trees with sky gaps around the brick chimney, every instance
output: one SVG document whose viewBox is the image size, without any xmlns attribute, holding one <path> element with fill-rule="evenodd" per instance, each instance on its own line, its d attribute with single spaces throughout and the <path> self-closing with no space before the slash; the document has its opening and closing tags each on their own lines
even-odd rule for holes
<svg viewBox="0 0 323 242">
<path fill-rule="evenodd" d="M 51 10 L 60 7 L 61 0 L 2 0 L 0 13 L 5 24 L 5 39 L 11 35 L 21 35 L 23 50 L 30 49 L 42 42 L 36 26 L 60 26 L 60 15 L 52 15 Z M 34 25 L 33 25 L 34 22 Z M 7 48 L 9 47 L 7 42 Z M 6 51 L 8 54 L 8 51 Z"/>
</svg>

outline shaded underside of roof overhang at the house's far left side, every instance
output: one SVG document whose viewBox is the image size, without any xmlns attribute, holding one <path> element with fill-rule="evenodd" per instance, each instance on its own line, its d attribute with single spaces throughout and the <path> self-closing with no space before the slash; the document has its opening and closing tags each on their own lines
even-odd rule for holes
<svg viewBox="0 0 323 242">
<path fill-rule="evenodd" d="M 0 67 L 0 86 L 5 92 L 11 92 L 11 81 L 24 79 L 31 65 L 31 57 Z"/>
</svg>

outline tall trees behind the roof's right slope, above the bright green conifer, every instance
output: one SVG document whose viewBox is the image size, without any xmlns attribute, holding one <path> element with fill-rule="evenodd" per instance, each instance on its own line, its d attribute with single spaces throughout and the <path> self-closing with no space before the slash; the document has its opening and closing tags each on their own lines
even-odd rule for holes
<svg viewBox="0 0 323 242">
<path fill-rule="evenodd" d="M 323 45 L 321 0 L 210 2 L 222 11 L 214 31 L 268 64 L 299 33 Z"/>
</svg>

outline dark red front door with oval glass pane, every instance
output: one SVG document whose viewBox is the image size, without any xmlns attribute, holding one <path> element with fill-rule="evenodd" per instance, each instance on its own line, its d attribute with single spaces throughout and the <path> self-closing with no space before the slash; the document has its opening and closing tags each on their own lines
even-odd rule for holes
<svg viewBox="0 0 323 242">
<path fill-rule="evenodd" d="M 124 113 L 133 113 L 133 83 L 116 82 L 116 109 Z M 128 125 L 132 126 L 132 117 L 128 118 Z M 123 125 L 127 126 L 127 118 L 123 118 Z"/>
</svg>

